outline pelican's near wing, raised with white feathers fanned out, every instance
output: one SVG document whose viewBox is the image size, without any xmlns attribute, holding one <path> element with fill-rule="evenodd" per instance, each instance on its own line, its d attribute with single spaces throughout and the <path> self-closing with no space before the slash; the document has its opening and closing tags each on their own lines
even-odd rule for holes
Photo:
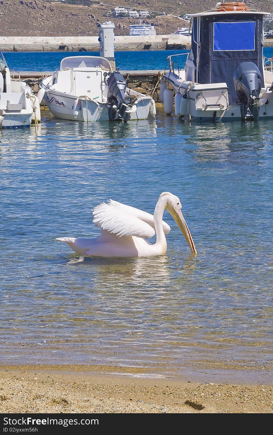
<svg viewBox="0 0 273 435">
<path fill-rule="evenodd" d="M 113 204 L 103 202 L 93 209 L 93 222 L 102 230 L 122 236 L 136 236 L 141 238 L 151 238 L 154 236 L 154 229 L 136 218 L 132 214 L 114 207 Z"/>
</svg>

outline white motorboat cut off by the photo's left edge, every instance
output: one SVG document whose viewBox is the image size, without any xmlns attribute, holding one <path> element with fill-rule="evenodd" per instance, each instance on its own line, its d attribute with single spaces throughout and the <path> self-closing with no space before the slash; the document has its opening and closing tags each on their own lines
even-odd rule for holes
<svg viewBox="0 0 273 435">
<path fill-rule="evenodd" d="M 11 80 L 7 62 L 0 52 L 0 127 L 29 127 L 38 124 L 40 104 L 23 81 Z"/>
</svg>

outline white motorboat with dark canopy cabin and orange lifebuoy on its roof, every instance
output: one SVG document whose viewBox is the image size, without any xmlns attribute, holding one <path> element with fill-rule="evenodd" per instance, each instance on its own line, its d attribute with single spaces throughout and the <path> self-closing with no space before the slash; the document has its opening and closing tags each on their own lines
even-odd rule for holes
<svg viewBox="0 0 273 435">
<path fill-rule="evenodd" d="M 191 15 L 192 42 L 184 69 L 169 56 L 160 84 L 167 114 L 196 121 L 273 117 L 272 59 L 263 57 L 263 17 L 245 3 L 217 3 Z"/>
</svg>

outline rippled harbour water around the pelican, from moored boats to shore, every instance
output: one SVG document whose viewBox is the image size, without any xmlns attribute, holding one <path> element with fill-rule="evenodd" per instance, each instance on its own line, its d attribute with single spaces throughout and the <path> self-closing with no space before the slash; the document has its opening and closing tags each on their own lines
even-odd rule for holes
<svg viewBox="0 0 273 435">
<path fill-rule="evenodd" d="M 273 123 L 43 120 L 0 131 L 0 362 L 183 371 L 272 363 Z M 54 239 L 95 236 L 113 198 L 153 212 L 180 197 L 167 254 L 86 259 Z"/>
</svg>

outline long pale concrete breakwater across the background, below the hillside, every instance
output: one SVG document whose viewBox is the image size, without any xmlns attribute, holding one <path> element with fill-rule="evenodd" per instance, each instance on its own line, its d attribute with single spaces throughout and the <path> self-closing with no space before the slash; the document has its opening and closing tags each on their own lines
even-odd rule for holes
<svg viewBox="0 0 273 435">
<path fill-rule="evenodd" d="M 116 51 L 187 50 L 190 37 L 183 35 L 115 36 Z M 1 51 L 99 51 L 97 36 L 0 37 Z"/>
</svg>

